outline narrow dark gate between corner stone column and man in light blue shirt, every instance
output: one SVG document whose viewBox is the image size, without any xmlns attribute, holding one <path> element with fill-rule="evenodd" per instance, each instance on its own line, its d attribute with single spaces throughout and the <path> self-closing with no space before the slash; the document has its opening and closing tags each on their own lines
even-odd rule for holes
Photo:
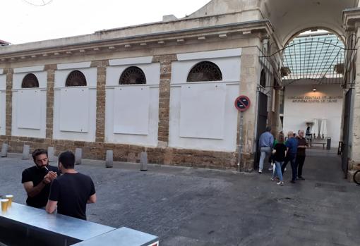
<svg viewBox="0 0 360 246">
<path fill-rule="evenodd" d="M 258 168 L 258 163 L 260 159 L 260 149 L 258 146 L 258 139 L 261 133 L 265 132 L 266 124 L 268 123 L 268 96 L 263 92 L 258 92 L 258 120 L 256 128 L 256 156 L 255 156 L 255 166 Z"/>
</svg>

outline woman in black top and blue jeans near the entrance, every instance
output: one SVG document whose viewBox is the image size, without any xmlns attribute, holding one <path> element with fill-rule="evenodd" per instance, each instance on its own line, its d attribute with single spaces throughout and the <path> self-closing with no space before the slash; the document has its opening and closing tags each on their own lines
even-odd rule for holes
<svg viewBox="0 0 360 246">
<path fill-rule="evenodd" d="M 272 159 L 275 161 L 275 171 L 272 172 L 272 181 L 275 181 L 275 176 L 279 178 L 277 185 L 284 185 L 284 180 L 282 180 L 282 164 L 284 164 L 285 156 L 287 153 L 287 147 L 284 144 L 285 137 L 282 133 L 277 136 L 277 143 L 274 146 L 272 151 Z"/>
</svg>

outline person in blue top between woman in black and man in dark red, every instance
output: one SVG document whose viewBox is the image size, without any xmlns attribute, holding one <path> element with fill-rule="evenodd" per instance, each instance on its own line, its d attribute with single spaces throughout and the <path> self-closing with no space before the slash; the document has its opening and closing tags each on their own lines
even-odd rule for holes
<svg viewBox="0 0 360 246">
<path fill-rule="evenodd" d="M 297 176 L 296 153 L 298 142 L 296 138 L 294 138 L 294 133 L 292 131 L 289 131 L 289 133 L 287 133 L 287 137 L 288 139 L 285 144 L 287 147 L 287 156 L 285 158 L 284 164 L 282 164 L 281 171 L 282 175 L 284 176 L 284 169 L 286 168 L 287 163 L 290 161 L 290 163 L 292 164 L 292 180 L 290 182 L 295 183 Z"/>
</svg>

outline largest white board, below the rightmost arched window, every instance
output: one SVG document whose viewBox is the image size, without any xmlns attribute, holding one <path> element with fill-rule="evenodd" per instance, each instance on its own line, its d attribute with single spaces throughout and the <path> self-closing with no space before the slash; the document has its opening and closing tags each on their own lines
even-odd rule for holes
<svg viewBox="0 0 360 246">
<path fill-rule="evenodd" d="M 181 86 L 180 137 L 223 139 L 226 85 Z"/>
</svg>

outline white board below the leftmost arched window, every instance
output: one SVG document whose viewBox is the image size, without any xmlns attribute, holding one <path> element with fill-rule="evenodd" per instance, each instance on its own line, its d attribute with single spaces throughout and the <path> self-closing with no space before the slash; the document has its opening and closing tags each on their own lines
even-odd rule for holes
<svg viewBox="0 0 360 246">
<path fill-rule="evenodd" d="M 16 97 L 16 126 L 40 130 L 42 118 L 40 90 L 18 90 Z"/>
</svg>

